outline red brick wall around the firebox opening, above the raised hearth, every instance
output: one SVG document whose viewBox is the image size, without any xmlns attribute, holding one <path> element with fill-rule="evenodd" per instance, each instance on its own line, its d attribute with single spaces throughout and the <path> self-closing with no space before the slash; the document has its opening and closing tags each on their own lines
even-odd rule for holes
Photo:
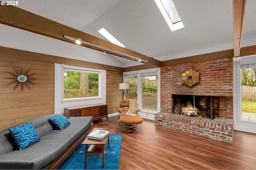
<svg viewBox="0 0 256 170">
<path fill-rule="evenodd" d="M 200 82 L 189 87 L 181 82 L 188 69 L 200 72 Z M 172 94 L 220 96 L 220 117 L 233 119 L 233 59 L 161 67 L 161 112 L 172 113 Z"/>
</svg>

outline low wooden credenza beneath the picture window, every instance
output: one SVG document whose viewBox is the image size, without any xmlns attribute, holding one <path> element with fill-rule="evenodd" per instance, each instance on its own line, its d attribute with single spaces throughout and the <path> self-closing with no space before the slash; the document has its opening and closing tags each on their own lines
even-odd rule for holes
<svg viewBox="0 0 256 170">
<path fill-rule="evenodd" d="M 92 120 L 107 118 L 108 121 L 108 105 L 97 104 L 89 106 L 77 106 L 64 108 L 64 115 L 69 117 L 76 116 L 92 116 Z"/>
</svg>

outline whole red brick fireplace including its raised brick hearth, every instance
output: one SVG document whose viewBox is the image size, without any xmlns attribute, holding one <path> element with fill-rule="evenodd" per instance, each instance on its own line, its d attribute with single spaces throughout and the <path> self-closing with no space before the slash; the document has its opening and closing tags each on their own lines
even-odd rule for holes
<svg viewBox="0 0 256 170">
<path fill-rule="evenodd" d="M 182 73 L 190 68 L 200 72 L 200 82 L 191 87 L 182 84 Z M 232 58 L 161 67 L 160 88 L 161 112 L 155 114 L 155 125 L 232 143 Z M 196 107 L 198 110 L 198 115 L 186 116 L 178 112 L 179 107 L 175 107 L 180 99 L 186 104 L 189 100 L 192 108 Z M 198 104 L 202 100 L 207 109 Z M 209 100 L 212 101 L 212 106 Z M 212 110 L 209 107 L 212 107 Z M 212 116 L 210 112 L 213 113 Z"/>
</svg>

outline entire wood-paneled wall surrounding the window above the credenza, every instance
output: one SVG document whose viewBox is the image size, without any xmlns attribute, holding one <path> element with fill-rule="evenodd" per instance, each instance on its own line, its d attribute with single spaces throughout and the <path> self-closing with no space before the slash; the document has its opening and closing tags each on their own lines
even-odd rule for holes
<svg viewBox="0 0 256 170">
<path fill-rule="evenodd" d="M 122 68 L 0 47 L 0 131 L 54 113 L 54 62 L 106 70 L 108 114 L 117 112 L 119 100 L 122 98 L 122 90 L 119 90 Z M 14 79 L 6 79 L 12 77 L 7 71 L 14 72 L 13 67 L 16 70 L 31 68 L 29 73 L 36 73 L 31 76 L 36 78 L 32 80 L 36 85 L 29 85 L 30 90 L 24 88 L 22 91 L 20 86 L 13 90 L 15 84 L 7 84 Z"/>
</svg>

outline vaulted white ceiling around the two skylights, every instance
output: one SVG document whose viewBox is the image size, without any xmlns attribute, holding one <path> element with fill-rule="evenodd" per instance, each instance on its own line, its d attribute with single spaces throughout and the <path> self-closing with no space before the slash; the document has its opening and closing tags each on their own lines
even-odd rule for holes
<svg viewBox="0 0 256 170">
<path fill-rule="evenodd" d="M 159 61 L 234 48 L 232 0 L 173 2 L 184 24 L 176 31 L 170 31 L 154 0 L 22 0 L 18 7 L 101 39 L 105 38 L 98 30 L 104 27 L 127 49 Z M 247 0 L 242 47 L 256 45 L 255 9 L 256 0 Z M 9 29 L 1 27 L 3 33 Z M 54 43 L 60 47 L 64 44 L 58 40 Z M 48 54 L 49 49 L 40 53 Z M 129 66 L 127 59 L 114 59 L 118 60 L 115 66 Z"/>
</svg>

